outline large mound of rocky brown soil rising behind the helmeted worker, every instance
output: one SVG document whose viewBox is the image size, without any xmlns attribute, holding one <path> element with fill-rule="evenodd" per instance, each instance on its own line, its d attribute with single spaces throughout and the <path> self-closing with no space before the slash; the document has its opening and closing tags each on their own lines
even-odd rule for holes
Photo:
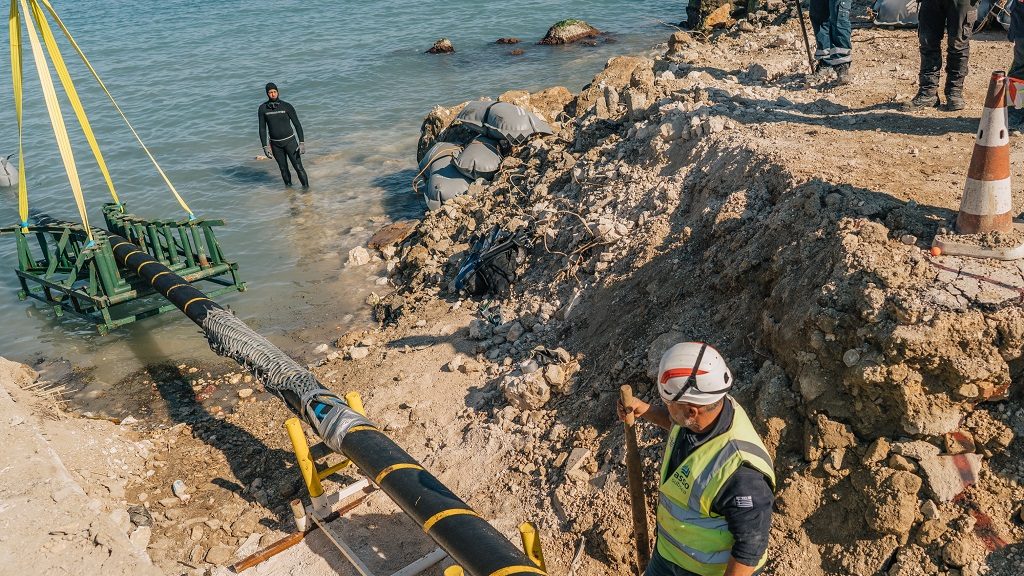
<svg viewBox="0 0 1024 576">
<path fill-rule="evenodd" d="M 526 229 L 524 276 L 500 314 L 481 312 L 494 335 L 477 360 L 504 392 L 498 422 L 556 415 L 578 430 L 563 450 L 600 454 L 573 468 L 586 489 L 568 474 L 549 485 L 561 526 L 595 534 L 611 561 L 629 556 L 625 513 L 591 502 L 625 498 L 605 407 L 623 381 L 651 399 L 660 349 L 699 339 L 730 359 L 775 452 L 776 573 L 981 573 L 987 551 L 1022 539 L 1018 476 L 992 467 L 1012 454 L 1019 415 L 985 404 L 1007 398 L 1022 366 L 1021 277 L 928 254 L 949 210 L 801 174 L 787 142 L 758 129 L 763 112 L 744 110 L 778 99 L 765 79 L 799 60 L 766 66 L 737 90 L 735 77 L 674 60 L 612 60 L 623 71 L 603 74 L 628 81 L 585 90 L 558 134 L 427 216 L 394 260 L 407 288 L 385 299 L 388 318 L 456 298 L 474 234 Z M 579 376 L 554 389 L 527 368 L 538 344 L 570 351 Z M 527 444 L 519 469 L 544 444 Z"/>
</svg>

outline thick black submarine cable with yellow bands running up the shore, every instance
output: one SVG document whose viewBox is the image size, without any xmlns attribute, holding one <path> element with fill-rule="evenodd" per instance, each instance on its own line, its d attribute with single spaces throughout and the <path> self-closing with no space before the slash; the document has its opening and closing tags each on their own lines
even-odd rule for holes
<svg viewBox="0 0 1024 576">
<path fill-rule="evenodd" d="M 118 265 L 147 282 L 230 358 L 306 421 L 335 452 L 350 459 L 472 576 L 546 574 L 415 458 L 348 407 L 269 340 L 118 235 L 109 236 Z"/>
</svg>

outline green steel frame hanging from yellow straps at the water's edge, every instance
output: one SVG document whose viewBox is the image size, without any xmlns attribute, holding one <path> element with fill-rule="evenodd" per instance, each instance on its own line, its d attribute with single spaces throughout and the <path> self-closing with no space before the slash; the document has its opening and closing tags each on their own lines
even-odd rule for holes
<svg viewBox="0 0 1024 576">
<path fill-rule="evenodd" d="M 124 212 L 124 204 L 105 204 L 103 218 L 111 232 L 138 244 L 157 260 L 190 283 L 217 286 L 215 297 L 244 291 L 238 264 L 224 258 L 213 227 L 223 220 L 146 220 Z M 93 229 L 93 245 L 81 224 L 46 220 L 20 228 L 2 228 L 17 244 L 18 298 L 35 298 L 49 305 L 57 317 L 65 313 L 96 325 L 100 334 L 137 320 L 175 310 L 155 294 L 133 271 L 121 271 L 103 231 Z M 31 239 L 36 240 L 35 246 Z"/>
</svg>

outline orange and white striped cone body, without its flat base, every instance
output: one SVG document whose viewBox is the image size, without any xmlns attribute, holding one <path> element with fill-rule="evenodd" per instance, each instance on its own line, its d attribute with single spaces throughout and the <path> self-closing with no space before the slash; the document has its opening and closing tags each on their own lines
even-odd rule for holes
<svg viewBox="0 0 1024 576">
<path fill-rule="evenodd" d="M 956 232 L 1011 232 L 1014 228 L 1012 209 L 1006 74 L 993 72 L 971 154 L 971 167 L 967 170 Z"/>
</svg>

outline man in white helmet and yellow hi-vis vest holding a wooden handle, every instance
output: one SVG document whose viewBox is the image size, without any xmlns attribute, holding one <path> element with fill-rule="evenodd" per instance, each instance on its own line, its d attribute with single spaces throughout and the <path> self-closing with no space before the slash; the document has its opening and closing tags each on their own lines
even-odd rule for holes
<svg viewBox="0 0 1024 576">
<path fill-rule="evenodd" d="M 663 404 L 618 405 L 620 418 L 632 411 L 669 430 L 645 576 L 748 576 L 765 565 L 775 472 L 732 384 L 718 351 L 683 342 L 662 356 Z"/>
</svg>

